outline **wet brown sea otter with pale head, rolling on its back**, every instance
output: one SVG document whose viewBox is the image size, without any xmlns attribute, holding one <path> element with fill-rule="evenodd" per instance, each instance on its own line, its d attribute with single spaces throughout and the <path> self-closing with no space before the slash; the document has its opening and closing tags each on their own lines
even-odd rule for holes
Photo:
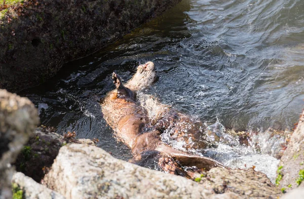
<svg viewBox="0 0 304 199">
<path fill-rule="evenodd" d="M 206 147 L 200 122 L 159 103 L 149 95 L 141 96 L 140 101 L 136 99 L 136 92 L 152 85 L 156 77 L 153 62 L 139 65 L 125 85 L 120 76 L 113 72 L 116 89 L 110 91 L 101 104 L 103 116 L 117 139 L 131 148 L 133 161 L 141 160 L 142 155 L 148 151 L 157 151 L 160 153 L 159 166 L 164 171 L 183 173 L 185 176 L 187 174 L 181 172 L 181 166 L 206 170 L 217 166 L 225 167 L 212 158 L 187 152 L 192 148 Z M 163 143 L 160 136 L 165 131 L 170 131 L 170 140 L 183 143 L 185 151 Z"/>
</svg>

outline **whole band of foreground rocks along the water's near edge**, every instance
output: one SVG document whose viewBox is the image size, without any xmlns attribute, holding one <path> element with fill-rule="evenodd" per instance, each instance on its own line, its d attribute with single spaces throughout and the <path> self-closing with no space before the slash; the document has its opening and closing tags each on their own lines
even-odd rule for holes
<svg viewBox="0 0 304 199">
<path fill-rule="evenodd" d="M 5 90 L 0 98 L 1 140 L 8 138 L 1 148 L 0 172 L 5 177 L 1 199 L 12 194 L 16 198 L 278 198 L 283 192 L 288 198 L 302 191 L 291 189 L 303 186 L 304 156 L 298 141 L 304 135 L 303 115 L 281 158 L 277 185 L 254 168 L 213 168 L 192 181 L 118 160 L 91 140 L 74 139 L 70 132 L 60 136 L 49 128 L 35 129 L 39 118 L 28 99 Z M 22 173 L 14 172 L 15 167 Z"/>
</svg>

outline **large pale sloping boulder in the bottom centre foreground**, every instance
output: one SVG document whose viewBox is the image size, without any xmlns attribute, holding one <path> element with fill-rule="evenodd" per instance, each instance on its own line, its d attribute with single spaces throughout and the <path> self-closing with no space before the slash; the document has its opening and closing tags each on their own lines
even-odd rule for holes
<svg viewBox="0 0 304 199">
<path fill-rule="evenodd" d="M 44 182 L 66 198 L 269 198 L 279 192 L 255 171 L 213 169 L 200 184 L 117 160 L 84 144 L 61 147 Z"/>
</svg>

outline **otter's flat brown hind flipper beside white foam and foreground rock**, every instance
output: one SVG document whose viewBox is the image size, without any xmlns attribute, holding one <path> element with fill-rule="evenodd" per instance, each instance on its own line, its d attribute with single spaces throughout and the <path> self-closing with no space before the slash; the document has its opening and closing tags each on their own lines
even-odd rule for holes
<svg viewBox="0 0 304 199">
<path fill-rule="evenodd" d="M 169 157 L 175 158 L 175 160 L 178 160 L 182 166 L 187 166 L 187 167 L 196 166 L 198 169 L 205 169 L 207 171 L 209 171 L 214 167 L 227 168 L 223 164 L 217 162 L 216 160 L 213 160 L 210 157 L 188 154 L 179 151 L 177 149 L 174 149 L 170 146 L 166 146 L 164 144 L 158 146 L 156 150 L 163 154 L 166 154 Z"/>
</svg>

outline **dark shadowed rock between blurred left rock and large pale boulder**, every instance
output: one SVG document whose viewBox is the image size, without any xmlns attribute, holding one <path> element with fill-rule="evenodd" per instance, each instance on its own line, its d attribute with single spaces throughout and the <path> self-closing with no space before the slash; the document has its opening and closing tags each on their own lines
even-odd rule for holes
<svg viewBox="0 0 304 199">
<path fill-rule="evenodd" d="M 47 128 L 37 128 L 18 155 L 16 170 L 40 182 L 54 163 L 61 146 L 68 143 L 86 143 L 95 145 L 89 139 L 65 138 Z"/>
</svg>

